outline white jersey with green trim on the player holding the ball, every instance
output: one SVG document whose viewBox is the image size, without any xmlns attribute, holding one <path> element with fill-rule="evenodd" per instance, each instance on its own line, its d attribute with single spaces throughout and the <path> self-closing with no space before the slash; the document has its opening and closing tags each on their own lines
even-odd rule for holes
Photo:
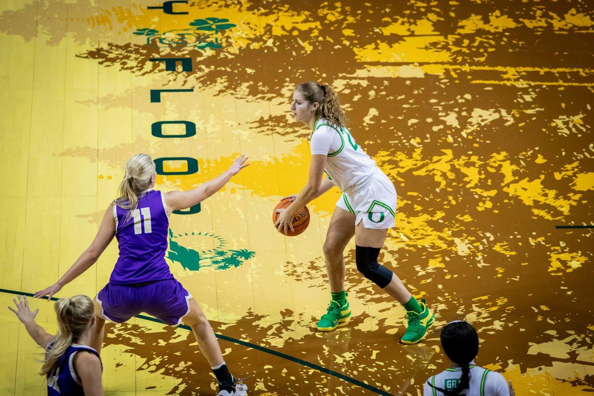
<svg viewBox="0 0 594 396">
<path fill-rule="evenodd" d="M 375 161 L 355 142 L 349 130 L 318 119 L 309 139 L 311 154 L 323 154 L 326 175 L 343 192 L 357 192 L 373 181 Z"/>
</svg>

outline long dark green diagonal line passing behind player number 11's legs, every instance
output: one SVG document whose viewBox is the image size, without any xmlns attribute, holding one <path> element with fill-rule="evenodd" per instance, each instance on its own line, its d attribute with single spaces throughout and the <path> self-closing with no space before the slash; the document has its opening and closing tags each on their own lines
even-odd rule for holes
<svg viewBox="0 0 594 396">
<path fill-rule="evenodd" d="M 0 292 L 10 293 L 10 294 L 20 294 L 21 296 L 33 297 L 33 294 L 31 294 L 31 293 L 17 292 L 16 290 L 0 289 Z M 58 298 L 52 297 L 52 301 L 58 301 L 58 300 L 59 300 Z M 160 321 L 159 319 L 153 318 L 152 316 L 136 315 L 134 317 L 138 318 L 138 319 L 145 319 L 150 322 L 165 324 L 162 321 Z M 187 326 L 187 325 L 179 325 L 178 327 L 181 327 L 185 330 L 191 331 L 191 328 L 189 328 L 189 326 Z M 228 337 L 227 335 L 218 334 L 218 333 L 214 333 L 214 335 L 216 335 L 216 337 L 220 338 L 221 340 L 229 341 L 231 343 L 238 344 L 238 345 L 248 347 L 251 349 L 256 349 L 258 351 L 268 353 L 268 354 L 271 354 L 276 357 L 280 357 L 281 359 L 290 360 L 291 362 L 298 363 L 299 365 L 306 366 L 306 367 L 309 367 L 314 370 L 318 370 L 319 372 L 326 373 L 331 376 L 335 376 L 336 378 L 340 378 L 343 381 L 350 382 L 353 385 L 357 385 L 358 387 L 367 389 L 368 391 L 374 392 L 375 394 L 382 395 L 382 396 L 392 396 L 392 394 L 390 394 L 386 391 L 383 391 L 379 388 L 372 387 L 371 385 L 365 384 L 365 382 L 358 381 L 355 378 L 351 378 L 349 376 L 346 376 L 346 375 L 336 372 L 334 370 L 330 370 L 330 369 L 327 369 L 322 366 L 314 365 L 314 363 L 307 362 L 307 360 L 299 359 L 298 357 L 290 356 L 285 353 L 275 351 L 273 349 L 268 349 L 268 348 L 260 346 L 258 344 L 252 344 L 252 343 L 248 343 L 247 341 L 238 340 L 237 338 Z"/>
</svg>

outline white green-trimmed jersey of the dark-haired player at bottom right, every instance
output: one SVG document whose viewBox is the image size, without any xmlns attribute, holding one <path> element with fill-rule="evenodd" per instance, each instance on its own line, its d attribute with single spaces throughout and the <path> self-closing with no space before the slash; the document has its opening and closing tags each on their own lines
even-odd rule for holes
<svg viewBox="0 0 594 396">
<path fill-rule="evenodd" d="M 462 368 L 446 369 L 429 377 L 423 386 L 423 396 L 443 396 L 443 393 L 429 386 L 445 389 L 456 389 L 462 376 Z M 429 384 L 428 384 L 428 383 Z M 503 375 L 470 363 L 469 388 L 459 393 L 460 396 L 510 396 L 510 388 Z"/>
</svg>

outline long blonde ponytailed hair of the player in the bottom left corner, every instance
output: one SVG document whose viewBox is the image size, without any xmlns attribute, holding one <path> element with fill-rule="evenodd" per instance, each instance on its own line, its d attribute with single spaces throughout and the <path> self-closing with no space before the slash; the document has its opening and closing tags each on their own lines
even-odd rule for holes
<svg viewBox="0 0 594 396">
<path fill-rule="evenodd" d="M 42 376 L 48 376 L 58 368 L 60 357 L 89 329 L 95 311 L 91 299 L 83 295 L 59 299 L 53 309 L 58 315 L 58 334 L 46 350 L 39 372 Z"/>
</svg>

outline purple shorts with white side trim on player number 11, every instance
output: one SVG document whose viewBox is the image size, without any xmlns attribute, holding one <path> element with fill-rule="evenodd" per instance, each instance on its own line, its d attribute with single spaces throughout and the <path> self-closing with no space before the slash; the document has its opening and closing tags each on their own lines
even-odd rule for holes
<svg viewBox="0 0 594 396">
<path fill-rule="evenodd" d="M 123 323 L 146 312 L 170 326 L 177 326 L 189 312 L 192 295 L 176 279 L 142 286 L 106 284 L 97 293 L 101 315 L 110 322 Z"/>
</svg>

